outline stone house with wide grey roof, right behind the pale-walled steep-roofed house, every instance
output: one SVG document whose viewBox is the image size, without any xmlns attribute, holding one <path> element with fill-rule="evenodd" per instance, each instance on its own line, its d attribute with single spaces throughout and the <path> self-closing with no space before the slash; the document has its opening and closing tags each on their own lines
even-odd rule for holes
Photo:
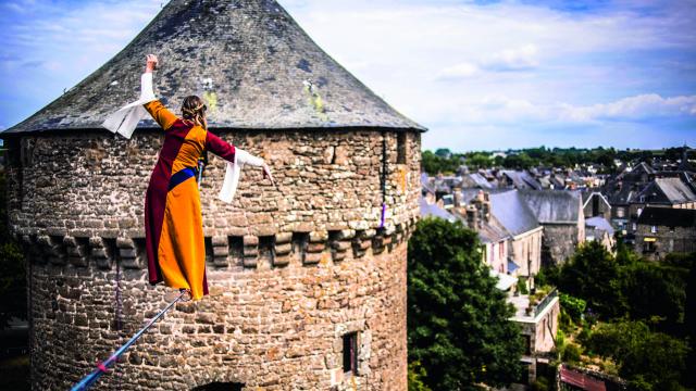
<svg viewBox="0 0 696 391">
<path fill-rule="evenodd" d="M 544 226 L 542 263 L 563 263 L 575 252 L 577 244 L 585 241 L 585 215 L 580 193 L 568 190 L 526 190 L 519 193 L 536 220 Z"/>
</svg>

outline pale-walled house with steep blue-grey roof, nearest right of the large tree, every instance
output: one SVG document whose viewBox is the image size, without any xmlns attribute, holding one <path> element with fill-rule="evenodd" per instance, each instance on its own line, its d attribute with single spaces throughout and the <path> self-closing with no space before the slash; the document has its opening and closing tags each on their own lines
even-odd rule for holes
<svg viewBox="0 0 696 391">
<path fill-rule="evenodd" d="M 518 190 L 492 192 L 489 198 L 492 217 L 509 234 L 508 268 L 517 267 L 517 275 L 533 278 L 542 265 L 544 227 Z"/>
</svg>

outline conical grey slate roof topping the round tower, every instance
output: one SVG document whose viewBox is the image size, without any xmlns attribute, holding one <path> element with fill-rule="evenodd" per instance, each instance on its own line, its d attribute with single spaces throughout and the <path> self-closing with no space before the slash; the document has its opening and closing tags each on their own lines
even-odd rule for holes
<svg viewBox="0 0 696 391">
<path fill-rule="evenodd" d="M 277 2 L 172 0 L 124 50 L 3 136 L 100 128 L 138 98 L 147 53 L 160 58 L 156 94 L 175 112 L 184 97 L 202 96 L 212 128 L 425 130 L 321 50 Z"/>
</svg>

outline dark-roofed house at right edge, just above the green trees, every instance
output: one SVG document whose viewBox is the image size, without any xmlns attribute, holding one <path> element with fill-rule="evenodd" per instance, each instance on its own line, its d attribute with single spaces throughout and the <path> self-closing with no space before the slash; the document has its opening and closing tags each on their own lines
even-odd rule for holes
<svg viewBox="0 0 696 391">
<path fill-rule="evenodd" d="M 696 251 L 696 210 L 648 206 L 637 220 L 635 251 L 659 260 Z"/>
</svg>

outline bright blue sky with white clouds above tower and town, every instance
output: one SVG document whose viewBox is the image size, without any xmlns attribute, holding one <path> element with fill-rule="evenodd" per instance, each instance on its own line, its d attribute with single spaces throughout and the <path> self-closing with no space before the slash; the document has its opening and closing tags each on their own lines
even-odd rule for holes
<svg viewBox="0 0 696 391">
<path fill-rule="evenodd" d="M 0 0 L 0 129 L 97 70 L 162 3 Z M 696 144 L 696 0 L 279 3 L 430 129 L 424 149 Z"/>
</svg>

